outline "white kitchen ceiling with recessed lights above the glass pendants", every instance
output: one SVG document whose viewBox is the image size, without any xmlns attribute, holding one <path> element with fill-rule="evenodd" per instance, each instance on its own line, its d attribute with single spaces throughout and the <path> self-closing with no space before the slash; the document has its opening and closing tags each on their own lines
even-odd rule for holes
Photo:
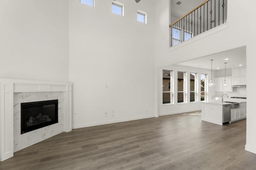
<svg viewBox="0 0 256 170">
<path fill-rule="evenodd" d="M 246 47 L 239 47 L 236 49 L 223 51 L 220 53 L 208 55 L 205 57 L 200 57 L 198 59 L 185 61 L 182 63 L 177 63 L 175 65 L 180 66 L 188 66 L 188 67 L 195 67 L 195 68 L 202 68 L 202 69 L 211 69 L 211 59 L 212 61 L 212 70 L 219 70 L 226 68 L 238 68 L 239 64 L 242 64 L 241 67 L 246 67 Z M 229 60 L 225 60 L 229 59 Z"/>
</svg>

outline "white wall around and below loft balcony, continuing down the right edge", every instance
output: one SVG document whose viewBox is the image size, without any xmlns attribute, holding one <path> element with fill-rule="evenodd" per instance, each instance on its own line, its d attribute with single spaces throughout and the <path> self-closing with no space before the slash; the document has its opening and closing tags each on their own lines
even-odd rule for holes
<svg viewBox="0 0 256 170">
<path fill-rule="evenodd" d="M 156 20 L 161 21 L 157 23 L 156 28 L 160 29 L 163 25 L 166 25 L 165 29 L 163 28 L 161 32 L 156 32 L 156 37 L 159 39 L 158 42 L 162 42 L 156 43 L 157 68 L 246 46 L 247 77 L 254 77 L 256 35 L 252 35 L 250 31 L 241 33 L 241 30 L 252 26 L 251 21 L 254 20 L 253 7 L 256 5 L 254 0 L 249 0 L 246 4 L 241 3 L 239 0 L 228 0 L 227 23 L 202 33 L 193 39 L 184 41 L 172 48 L 166 48 L 168 46 L 166 43 L 166 39 L 168 39 L 166 32 L 168 32 L 169 29 L 168 20 L 161 20 L 162 18 L 160 18 L 161 14 L 165 14 L 167 10 L 166 8 L 160 10 L 161 7 L 169 6 L 169 1 L 163 0 L 156 5 L 156 13 L 158 14 Z M 238 6 L 239 11 L 237 10 Z M 242 23 L 239 23 L 239 21 Z M 253 78 L 248 78 L 247 80 L 247 91 L 250 93 L 247 94 L 246 131 L 246 150 L 254 153 L 256 153 L 256 136 L 254 134 L 254 129 L 256 129 L 256 114 L 254 114 L 254 96 L 256 96 L 256 91 L 254 90 L 255 81 L 256 80 Z"/>
</svg>

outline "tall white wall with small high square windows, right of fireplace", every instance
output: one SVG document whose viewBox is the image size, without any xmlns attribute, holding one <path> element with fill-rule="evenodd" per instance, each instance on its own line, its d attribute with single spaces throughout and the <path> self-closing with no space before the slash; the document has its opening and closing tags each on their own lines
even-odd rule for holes
<svg viewBox="0 0 256 170">
<path fill-rule="evenodd" d="M 95 7 L 69 1 L 74 128 L 154 117 L 154 4 L 118 2 L 124 16 L 111 12 L 111 0 Z M 137 10 L 147 13 L 147 24 L 137 21 Z"/>
</svg>

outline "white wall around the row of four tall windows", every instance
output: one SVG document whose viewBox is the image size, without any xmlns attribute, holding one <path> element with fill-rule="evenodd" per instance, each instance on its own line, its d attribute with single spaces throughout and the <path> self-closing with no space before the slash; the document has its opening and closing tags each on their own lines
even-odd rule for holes
<svg viewBox="0 0 256 170">
<path fill-rule="evenodd" d="M 194 67 L 186 67 L 186 66 L 178 66 L 178 65 L 170 65 L 170 66 L 164 66 L 162 68 L 159 68 L 159 78 L 158 78 L 158 82 L 159 82 L 159 87 L 162 87 L 162 70 L 172 70 L 173 71 L 173 76 L 174 76 L 174 104 L 162 104 L 162 88 L 159 88 L 158 91 L 158 98 L 159 98 L 159 103 L 158 103 L 158 114 L 161 115 L 169 115 L 169 114 L 176 114 L 176 113 L 183 113 L 183 112 L 188 112 L 188 111 L 197 111 L 197 110 L 201 110 L 202 106 L 201 106 L 201 102 L 200 102 L 200 91 L 201 91 L 201 87 L 200 87 L 200 80 L 201 80 L 201 74 L 208 74 L 208 77 L 211 76 L 211 70 L 205 70 L 205 69 L 201 69 L 201 68 L 194 68 Z M 178 71 L 183 71 L 187 73 L 187 86 L 186 86 L 186 90 L 187 90 L 187 102 L 186 103 L 177 103 L 177 72 Z M 198 74 L 198 101 L 199 102 L 189 102 L 190 101 L 190 72 L 193 73 L 197 73 Z M 214 74 L 213 74 L 214 76 Z M 210 79 L 210 77 L 209 77 Z M 209 87 L 208 88 L 208 99 L 211 100 L 213 96 L 215 96 L 215 92 L 214 92 L 214 87 Z"/>
</svg>

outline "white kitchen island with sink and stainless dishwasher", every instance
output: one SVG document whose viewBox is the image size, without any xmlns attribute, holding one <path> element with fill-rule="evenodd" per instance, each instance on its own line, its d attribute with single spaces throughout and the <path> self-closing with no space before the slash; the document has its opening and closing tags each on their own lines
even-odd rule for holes
<svg viewBox="0 0 256 170">
<path fill-rule="evenodd" d="M 246 118 L 246 100 L 225 98 L 223 102 L 221 100 L 202 101 L 202 120 L 223 125 L 224 122 L 227 122 L 223 121 L 225 119 L 223 110 L 232 103 L 238 104 L 239 107 L 231 108 L 228 122 Z"/>
</svg>

